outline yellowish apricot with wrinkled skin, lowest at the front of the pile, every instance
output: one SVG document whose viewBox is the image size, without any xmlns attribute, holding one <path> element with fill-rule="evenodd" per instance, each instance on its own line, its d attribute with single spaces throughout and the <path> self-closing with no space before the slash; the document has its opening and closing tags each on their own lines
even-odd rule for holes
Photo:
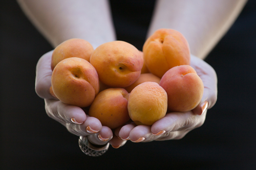
<svg viewBox="0 0 256 170">
<path fill-rule="evenodd" d="M 136 86 L 129 95 L 128 112 L 136 125 L 153 125 L 167 111 L 167 93 L 155 82 Z"/>
</svg>

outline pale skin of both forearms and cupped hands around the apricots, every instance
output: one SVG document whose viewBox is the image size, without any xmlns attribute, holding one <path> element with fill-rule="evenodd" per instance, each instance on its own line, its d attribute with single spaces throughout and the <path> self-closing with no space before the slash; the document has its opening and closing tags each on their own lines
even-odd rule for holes
<svg viewBox="0 0 256 170">
<path fill-rule="evenodd" d="M 56 47 L 70 38 L 82 38 L 94 48 L 116 40 L 111 11 L 106 0 L 19 0 L 20 7 L 42 35 Z M 47 114 L 77 136 L 88 136 L 98 145 L 110 142 L 119 148 L 127 140 L 181 139 L 189 131 L 203 125 L 207 109 L 217 100 L 215 70 L 202 59 L 214 48 L 243 9 L 245 0 L 160 0 L 156 2 L 148 36 L 160 28 L 180 31 L 188 40 L 191 66 L 204 83 L 200 104 L 185 113 L 172 112 L 152 126 L 135 126 L 130 123 L 114 131 L 102 126 L 98 119 L 89 117 L 81 108 L 56 100 L 50 92 L 51 52 L 42 56 L 36 67 L 35 90 L 45 99 Z M 195 57 L 197 56 L 197 57 Z M 88 128 L 90 127 L 90 128 Z"/>
</svg>

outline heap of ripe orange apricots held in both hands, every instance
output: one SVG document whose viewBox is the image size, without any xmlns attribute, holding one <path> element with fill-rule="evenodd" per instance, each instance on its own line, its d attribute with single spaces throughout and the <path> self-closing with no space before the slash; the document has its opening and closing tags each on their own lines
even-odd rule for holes
<svg viewBox="0 0 256 170">
<path fill-rule="evenodd" d="M 151 126 L 166 112 L 200 103 L 203 82 L 189 64 L 187 40 L 172 29 L 157 30 L 143 52 L 124 41 L 94 50 L 86 40 L 69 39 L 53 51 L 50 92 L 63 103 L 88 108 L 111 129 L 130 119 Z"/>
</svg>

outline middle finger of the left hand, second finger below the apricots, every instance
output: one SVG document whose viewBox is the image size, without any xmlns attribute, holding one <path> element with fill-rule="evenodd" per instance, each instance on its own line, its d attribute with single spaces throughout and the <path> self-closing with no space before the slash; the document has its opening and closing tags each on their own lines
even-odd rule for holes
<svg viewBox="0 0 256 170">
<path fill-rule="evenodd" d="M 102 125 L 97 118 L 87 116 L 87 119 L 84 123 L 80 125 L 74 123 L 67 123 L 66 128 L 70 133 L 74 135 L 87 136 L 97 134 L 102 129 Z"/>
</svg>

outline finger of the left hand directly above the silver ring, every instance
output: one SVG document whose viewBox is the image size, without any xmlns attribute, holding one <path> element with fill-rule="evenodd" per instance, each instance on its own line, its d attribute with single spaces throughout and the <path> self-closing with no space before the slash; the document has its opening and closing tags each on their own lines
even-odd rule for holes
<svg viewBox="0 0 256 170">
<path fill-rule="evenodd" d="M 109 127 L 103 126 L 99 133 L 88 135 L 87 138 L 93 144 L 103 145 L 113 138 L 113 133 Z"/>
</svg>

